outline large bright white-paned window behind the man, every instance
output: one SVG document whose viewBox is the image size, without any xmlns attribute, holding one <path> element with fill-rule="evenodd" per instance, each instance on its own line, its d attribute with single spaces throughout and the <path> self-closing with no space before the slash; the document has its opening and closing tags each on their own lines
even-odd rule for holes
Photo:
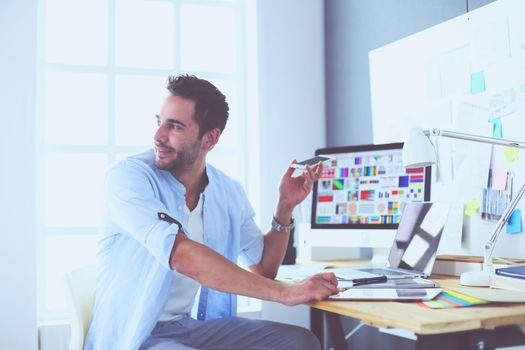
<svg viewBox="0 0 525 350">
<path fill-rule="evenodd" d="M 168 75 L 226 95 L 209 161 L 249 188 L 245 17 L 241 0 L 40 1 L 40 319 L 65 317 L 64 272 L 95 262 L 105 170 L 151 147 Z"/>
</svg>

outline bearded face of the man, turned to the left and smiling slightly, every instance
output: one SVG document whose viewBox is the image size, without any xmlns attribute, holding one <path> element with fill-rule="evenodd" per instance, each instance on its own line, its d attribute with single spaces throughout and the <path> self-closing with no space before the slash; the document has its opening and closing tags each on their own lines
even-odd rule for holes
<svg viewBox="0 0 525 350">
<path fill-rule="evenodd" d="M 155 165 L 162 170 L 191 168 L 201 154 L 199 125 L 193 118 L 195 102 L 180 96 L 164 99 L 154 135 Z"/>
</svg>

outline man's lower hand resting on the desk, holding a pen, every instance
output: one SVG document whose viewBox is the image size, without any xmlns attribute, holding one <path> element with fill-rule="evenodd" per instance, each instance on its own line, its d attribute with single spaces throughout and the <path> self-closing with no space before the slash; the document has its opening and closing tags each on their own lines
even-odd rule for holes
<svg viewBox="0 0 525 350">
<path fill-rule="evenodd" d="M 337 279 L 331 272 L 314 275 L 300 283 L 283 288 L 281 303 L 293 306 L 321 301 L 339 293 Z"/>
</svg>

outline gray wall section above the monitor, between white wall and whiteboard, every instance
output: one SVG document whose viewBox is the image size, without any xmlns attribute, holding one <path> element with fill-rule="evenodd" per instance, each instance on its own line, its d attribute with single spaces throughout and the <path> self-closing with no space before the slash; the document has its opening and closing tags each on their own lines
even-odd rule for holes
<svg viewBox="0 0 525 350">
<path fill-rule="evenodd" d="M 325 1 L 327 145 L 372 142 L 370 50 L 466 9 L 466 0 Z"/>
</svg>

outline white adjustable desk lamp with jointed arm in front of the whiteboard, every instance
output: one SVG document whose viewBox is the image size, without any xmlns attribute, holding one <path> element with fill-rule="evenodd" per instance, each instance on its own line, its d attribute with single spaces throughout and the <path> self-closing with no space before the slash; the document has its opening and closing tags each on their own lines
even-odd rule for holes
<svg viewBox="0 0 525 350">
<path fill-rule="evenodd" d="M 471 135 L 440 129 L 422 130 L 416 128 L 410 130 L 408 140 L 405 142 L 403 147 L 403 165 L 405 166 L 405 168 L 420 168 L 436 164 L 436 152 L 434 150 L 434 147 L 432 146 L 432 143 L 430 142 L 429 136 L 442 136 L 453 139 L 525 149 L 525 143 L 518 141 L 497 139 L 493 137 Z M 492 253 L 494 251 L 496 240 L 498 239 L 500 232 L 505 227 L 507 221 L 509 221 L 512 211 L 514 210 L 514 208 L 516 208 L 516 205 L 523 196 L 524 192 L 525 183 L 521 186 L 516 196 L 509 203 L 504 213 L 501 215 L 501 218 L 498 220 L 498 223 L 492 231 L 492 234 L 490 235 L 489 239 L 487 239 L 487 241 L 485 242 L 485 246 L 483 248 L 482 270 L 463 272 L 460 277 L 460 282 L 462 285 L 490 285 L 489 276 L 493 273 Z"/>
</svg>

